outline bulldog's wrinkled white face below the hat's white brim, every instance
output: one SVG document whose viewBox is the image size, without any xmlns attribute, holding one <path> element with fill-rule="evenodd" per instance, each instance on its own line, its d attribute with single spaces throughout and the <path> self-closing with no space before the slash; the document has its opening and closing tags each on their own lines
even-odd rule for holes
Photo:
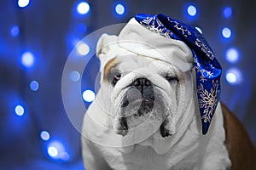
<svg viewBox="0 0 256 170">
<path fill-rule="evenodd" d="M 150 125 L 156 120 L 162 122 L 162 137 L 175 133 L 177 123 L 186 118 L 186 102 L 192 99 L 191 75 L 191 71 L 137 54 L 119 53 L 109 59 L 102 66 L 100 95 L 108 104 L 103 107 L 115 133 L 125 136 L 144 122 Z"/>
</svg>

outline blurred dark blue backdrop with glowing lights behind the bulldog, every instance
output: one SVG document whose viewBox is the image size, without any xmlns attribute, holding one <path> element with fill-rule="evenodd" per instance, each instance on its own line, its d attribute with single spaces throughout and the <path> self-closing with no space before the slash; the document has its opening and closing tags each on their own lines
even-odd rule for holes
<svg viewBox="0 0 256 170">
<path fill-rule="evenodd" d="M 20 8 L 18 4 L 26 1 L 29 3 Z M 90 8 L 82 7 L 85 14 L 80 14 L 78 6 L 83 2 Z M 123 8 L 116 11 L 118 4 Z M 193 5 L 191 11 L 189 5 Z M 0 169 L 84 168 L 80 134 L 69 121 L 61 99 L 65 62 L 86 35 L 127 22 L 137 13 L 163 13 L 201 28 L 223 66 L 221 100 L 256 144 L 254 10 L 253 0 L 1 0 Z M 230 48 L 233 50 L 227 55 Z M 94 56 L 85 69 L 82 76 L 75 73 L 71 77 L 73 81 L 83 79 L 81 97 L 87 89 L 96 92 L 99 60 Z M 86 97 L 84 105 L 90 105 Z M 42 131 L 49 137 L 47 133 L 42 136 Z"/>
</svg>

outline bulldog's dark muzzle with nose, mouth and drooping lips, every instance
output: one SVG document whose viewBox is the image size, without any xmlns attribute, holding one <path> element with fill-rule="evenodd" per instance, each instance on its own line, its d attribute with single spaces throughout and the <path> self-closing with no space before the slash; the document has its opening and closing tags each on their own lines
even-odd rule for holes
<svg viewBox="0 0 256 170">
<path fill-rule="evenodd" d="M 132 82 L 121 100 L 119 114 L 114 119 L 114 128 L 117 134 L 125 136 L 129 129 L 143 127 L 144 122 L 149 125 L 162 122 L 161 136 L 170 135 L 165 128 L 164 101 L 161 101 L 158 94 L 154 92 L 153 84 L 147 78 L 137 78 Z"/>
</svg>

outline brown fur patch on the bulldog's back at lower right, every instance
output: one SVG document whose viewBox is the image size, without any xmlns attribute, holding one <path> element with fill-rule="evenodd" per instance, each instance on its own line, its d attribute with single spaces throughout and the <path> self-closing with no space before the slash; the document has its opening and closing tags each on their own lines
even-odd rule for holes
<svg viewBox="0 0 256 170">
<path fill-rule="evenodd" d="M 223 103 L 225 145 L 229 151 L 232 170 L 256 169 L 256 150 L 246 129 Z"/>
</svg>

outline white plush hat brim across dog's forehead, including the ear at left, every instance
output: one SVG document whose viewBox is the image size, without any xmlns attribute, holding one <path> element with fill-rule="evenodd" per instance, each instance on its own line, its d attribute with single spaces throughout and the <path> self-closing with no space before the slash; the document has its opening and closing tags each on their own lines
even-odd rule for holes
<svg viewBox="0 0 256 170">
<path fill-rule="evenodd" d="M 134 18 L 120 31 L 118 37 L 103 34 L 98 41 L 97 56 L 102 66 L 118 54 L 139 54 L 160 59 L 183 72 L 193 67 L 192 51 L 184 42 L 149 31 Z"/>
</svg>

